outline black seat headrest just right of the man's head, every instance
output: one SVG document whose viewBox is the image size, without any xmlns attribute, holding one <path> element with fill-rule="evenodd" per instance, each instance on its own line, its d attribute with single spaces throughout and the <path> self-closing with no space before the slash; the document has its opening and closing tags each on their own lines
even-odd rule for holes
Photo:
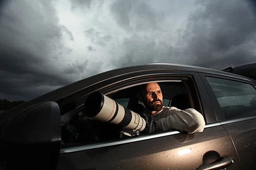
<svg viewBox="0 0 256 170">
<path fill-rule="evenodd" d="M 180 110 L 185 110 L 191 108 L 189 95 L 187 94 L 177 94 L 172 98 L 171 107 L 178 108 Z"/>
</svg>

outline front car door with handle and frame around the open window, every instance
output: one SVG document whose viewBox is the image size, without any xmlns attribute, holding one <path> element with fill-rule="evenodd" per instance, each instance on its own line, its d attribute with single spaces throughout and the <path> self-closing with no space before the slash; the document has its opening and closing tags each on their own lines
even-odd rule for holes
<svg viewBox="0 0 256 170">
<path fill-rule="evenodd" d="M 203 164 L 204 166 L 200 167 L 201 170 L 220 165 L 227 165 L 227 170 L 241 170 L 232 140 L 224 127 L 217 122 L 207 91 L 197 73 L 162 70 L 142 72 L 139 78 L 130 74 L 126 78 L 129 79 L 128 86 L 152 81 L 152 79 L 170 80 L 183 75 L 192 78 L 189 89 L 202 108 L 200 112 L 204 114 L 207 124 L 204 132 L 188 134 L 170 130 L 114 141 L 65 147 L 61 149 L 58 170 L 195 170 Z M 108 85 L 113 82 L 122 82 L 122 88 L 124 88 L 125 81 L 124 77 L 119 77 L 105 82 L 102 87 L 108 88 L 108 92 L 114 91 L 120 88 L 119 84 L 115 84 L 114 88 Z M 101 87 L 89 88 L 87 93 L 99 88 Z"/>
</svg>

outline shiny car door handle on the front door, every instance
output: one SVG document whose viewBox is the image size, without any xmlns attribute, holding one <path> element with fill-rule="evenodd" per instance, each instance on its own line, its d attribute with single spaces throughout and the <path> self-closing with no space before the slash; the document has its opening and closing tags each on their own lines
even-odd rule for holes
<svg viewBox="0 0 256 170">
<path fill-rule="evenodd" d="M 197 168 L 197 170 L 221 170 L 229 167 L 234 163 L 234 159 L 232 156 L 222 156 L 217 161 L 212 164 L 203 164 Z"/>
</svg>

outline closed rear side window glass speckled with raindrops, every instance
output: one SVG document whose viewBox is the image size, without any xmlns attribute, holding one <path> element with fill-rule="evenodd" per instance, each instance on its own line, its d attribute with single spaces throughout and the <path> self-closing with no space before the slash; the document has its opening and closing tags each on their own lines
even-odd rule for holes
<svg viewBox="0 0 256 170">
<path fill-rule="evenodd" d="M 225 119 L 256 116 L 256 89 L 253 85 L 227 79 L 206 77 Z"/>
</svg>

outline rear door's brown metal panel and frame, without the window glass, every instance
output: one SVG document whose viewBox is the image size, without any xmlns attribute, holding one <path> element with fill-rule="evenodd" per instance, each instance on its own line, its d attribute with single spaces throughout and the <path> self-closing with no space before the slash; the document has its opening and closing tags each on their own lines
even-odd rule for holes
<svg viewBox="0 0 256 170">
<path fill-rule="evenodd" d="M 207 82 L 205 76 L 211 76 L 209 74 L 199 74 L 201 79 L 204 82 L 204 85 L 207 89 L 207 92 L 212 100 L 212 105 L 214 106 L 215 114 L 218 121 L 223 125 L 227 130 L 233 144 L 236 148 L 236 152 L 239 156 L 239 161 L 241 163 L 241 168 L 243 170 L 254 170 L 256 169 L 256 112 L 251 116 L 242 116 L 238 119 L 225 119 L 224 113 L 221 110 L 221 107 L 218 103 L 217 98 L 215 97 L 214 92 L 212 91 L 211 86 Z M 221 77 L 214 75 L 214 78 L 227 79 L 232 81 L 239 81 L 242 83 L 250 84 L 255 88 L 255 83 L 244 80 L 237 80 L 230 77 Z"/>
</svg>

